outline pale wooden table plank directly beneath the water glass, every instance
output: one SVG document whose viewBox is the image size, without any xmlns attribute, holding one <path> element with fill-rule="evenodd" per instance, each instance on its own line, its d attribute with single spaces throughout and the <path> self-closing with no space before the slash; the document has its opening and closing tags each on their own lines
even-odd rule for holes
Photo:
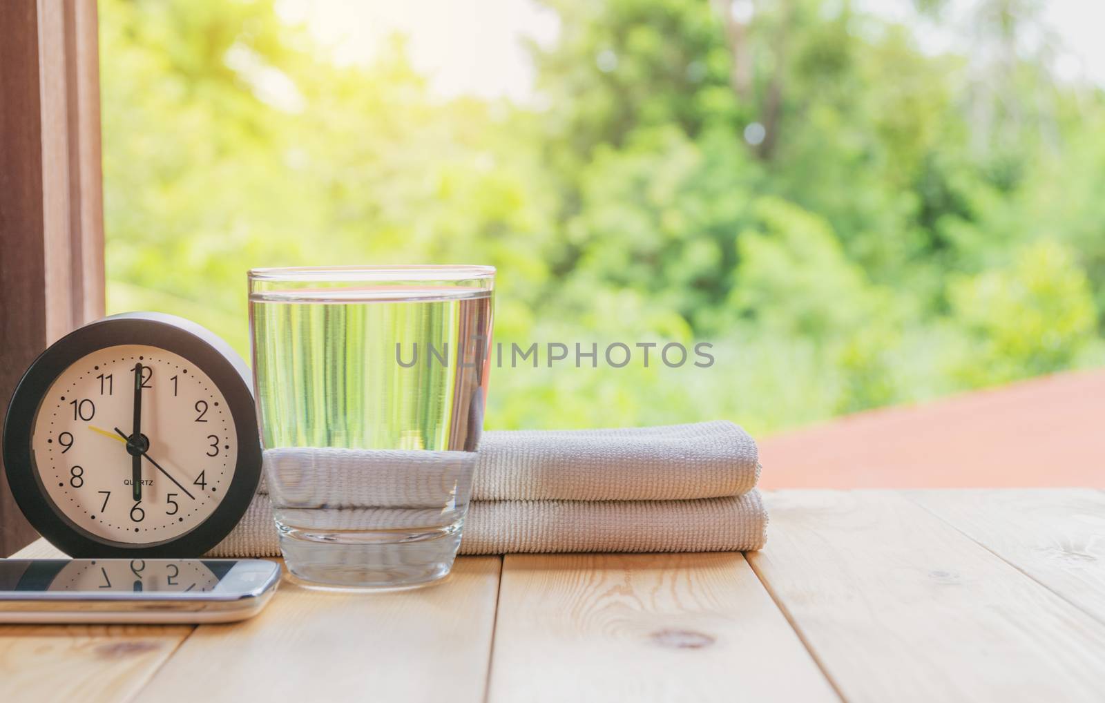
<svg viewBox="0 0 1105 703">
<path fill-rule="evenodd" d="M 252 620 L 206 625 L 139 701 L 483 701 L 498 557 L 461 557 L 445 583 L 341 594 L 285 581 Z"/>
</svg>

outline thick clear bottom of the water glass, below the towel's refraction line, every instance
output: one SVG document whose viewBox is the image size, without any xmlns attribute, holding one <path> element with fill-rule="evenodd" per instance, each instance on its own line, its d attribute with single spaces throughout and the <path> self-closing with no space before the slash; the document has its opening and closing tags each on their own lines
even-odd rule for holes
<svg viewBox="0 0 1105 703">
<path fill-rule="evenodd" d="M 425 532 L 317 533 L 277 522 L 284 565 L 302 585 L 381 590 L 409 588 L 449 575 L 461 524 Z"/>
</svg>

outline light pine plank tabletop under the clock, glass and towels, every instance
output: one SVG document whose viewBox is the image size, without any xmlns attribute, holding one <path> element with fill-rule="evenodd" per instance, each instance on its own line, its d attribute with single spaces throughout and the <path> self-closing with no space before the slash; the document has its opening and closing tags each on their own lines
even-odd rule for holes
<svg viewBox="0 0 1105 703">
<path fill-rule="evenodd" d="M 236 625 L 2 626 L 0 701 L 1105 700 L 1105 492 L 768 504 L 747 555 L 462 557 L 414 591 L 284 583 Z"/>
</svg>

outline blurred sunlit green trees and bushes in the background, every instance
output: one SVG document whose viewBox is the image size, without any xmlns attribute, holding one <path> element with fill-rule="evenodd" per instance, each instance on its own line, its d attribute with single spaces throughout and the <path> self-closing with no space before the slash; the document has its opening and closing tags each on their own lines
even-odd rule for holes
<svg viewBox="0 0 1105 703">
<path fill-rule="evenodd" d="M 336 65 L 267 0 L 102 0 L 110 311 L 248 356 L 249 267 L 491 263 L 496 340 L 714 344 L 496 368 L 499 429 L 764 432 L 1102 363 L 1105 95 L 1010 18 L 932 55 L 848 2 L 547 4 L 538 108 L 433 96 L 401 38 Z"/>
</svg>

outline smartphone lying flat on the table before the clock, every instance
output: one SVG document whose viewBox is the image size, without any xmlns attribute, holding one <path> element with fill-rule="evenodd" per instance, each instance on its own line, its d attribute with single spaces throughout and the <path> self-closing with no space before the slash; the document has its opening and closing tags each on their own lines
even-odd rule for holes
<svg viewBox="0 0 1105 703">
<path fill-rule="evenodd" d="M 280 576 L 264 559 L 0 559 L 0 622 L 233 622 Z"/>
</svg>

